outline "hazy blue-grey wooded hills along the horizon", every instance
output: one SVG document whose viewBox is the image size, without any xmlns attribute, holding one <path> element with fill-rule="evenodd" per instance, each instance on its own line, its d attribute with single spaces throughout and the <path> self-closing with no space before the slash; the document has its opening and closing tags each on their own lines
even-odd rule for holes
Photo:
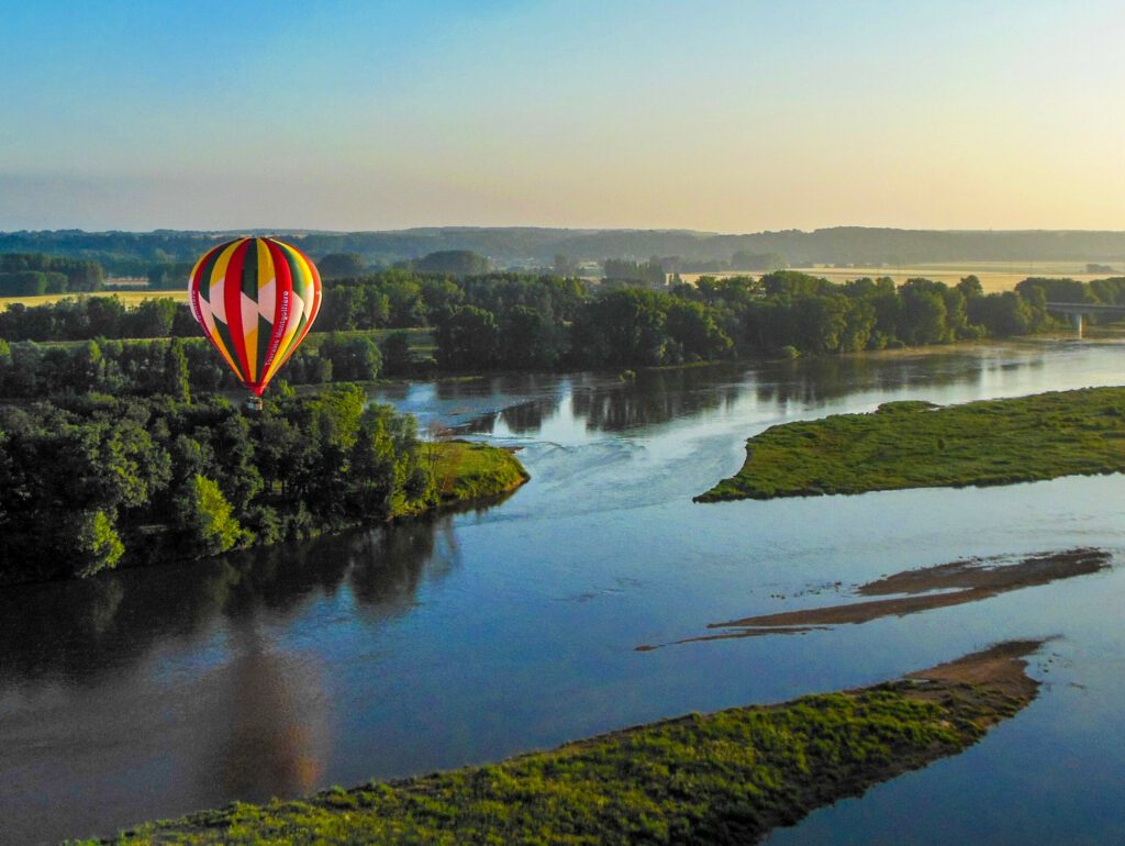
<svg viewBox="0 0 1125 846">
<path fill-rule="evenodd" d="M 0 253 L 46 253 L 94 259 L 112 273 L 192 261 L 208 245 L 238 232 L 52 232 L 0 233 Z M 557 254 L 570 261 L 609 258 L 681 256 L 686 262 L 729 262 L 738 251 L 778 253 L 793 266 L 847 263 L 916 264 L 946 261 L 1125 261 L 1125 232 L 932 231 L 839 226 L 813 232 L 786 230 L 745 235 L 686 230 L 552 230 L 464 227 L 390 232 L 281 231 L 314 259 L 359 253 L 370 264 L 392 264 L 430 253 L 470 250 L 498 267 L 547 266 Z"/>
</svg>

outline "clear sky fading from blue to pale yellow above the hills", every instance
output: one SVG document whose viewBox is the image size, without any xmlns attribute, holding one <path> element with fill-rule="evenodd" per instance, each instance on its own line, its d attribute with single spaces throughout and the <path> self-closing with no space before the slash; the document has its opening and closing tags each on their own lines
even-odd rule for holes
<svg viewBox="0 0 1125 846">
<path fill-rule="evenodd" d="M 1125 3 L 0 0 L 0 230 L 1125 230 Z"/>
</svg>

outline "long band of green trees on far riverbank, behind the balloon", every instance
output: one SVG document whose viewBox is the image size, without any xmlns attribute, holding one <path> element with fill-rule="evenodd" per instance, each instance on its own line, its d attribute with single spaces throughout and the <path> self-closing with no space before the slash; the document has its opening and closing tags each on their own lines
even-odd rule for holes
<svg viewBox="0 0 1125 846">
<path fill-rule="evenodd" d="M 651 286 L 526 273 L 440 276 L 397 269 L 324 282 L 314 335 L 414 330 L 433 356 L 396 359 L 394 375 L 489 369 L 677 364 L 777 354 L 832 354 L 1056 327 L 1051 299 L 1125 299 L 1125 278 L 1027 279 L 986 295 L 975 277 L 955 286 L 889 278 L 844 284 L 795 271 Z M 183 303 L 126 308 L 86 297 L 0 312 L 0 339 L 16 342 L 196 338 Z M 386 350 L 382 350 L 385 358 Z"/>
</svg>

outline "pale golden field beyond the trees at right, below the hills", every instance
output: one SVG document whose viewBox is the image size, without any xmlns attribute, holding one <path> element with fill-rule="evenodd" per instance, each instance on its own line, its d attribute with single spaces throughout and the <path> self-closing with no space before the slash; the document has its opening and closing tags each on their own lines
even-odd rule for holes
<svg viewBox="0 0 1125 846">
<path fill-rule="evenodd" d="M 860 267 L 860 268 L 832 268 L 824 264 L 793 268 L 802 273 L 824 277 L 834 282 L 846 282 L 849 279 L 861 279 L 870 276 L 875 279 L 881 276 L 891 277 L 896 284 L 904 282 L 914 277 L 925 277 L 946 285 L 956 285 L 963 277 L 973 274 L 981 280 L 981 286 L 986 294 L 1012 290 L 1018 282 L 1029 276 L 1045 277 L 1069 277 L 1079 281 L 1088 282 L 1092 279 L 1105 279 L 1106 277 L 1125 274 L 1125 268 L 1115 268 L 1113 273 L 1087 273 L 1084 262 L 1055 261 L 1035 262 L 1023 261 L 976 261 L 976 262 L 951 262 L 934 264 L 903 264 L 894 267 Z M 746 273 L 681 273 L 685 282 L 695 282 L 701 276 L 747 276 Z M 757 276 L 750 273 L 749 276 Z"/>
</svg>

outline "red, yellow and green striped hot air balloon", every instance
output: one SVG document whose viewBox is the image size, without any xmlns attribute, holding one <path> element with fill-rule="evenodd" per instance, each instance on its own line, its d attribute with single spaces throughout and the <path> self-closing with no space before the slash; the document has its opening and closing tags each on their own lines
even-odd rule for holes
<svg viewBox="0 0 1125 846">
<path fill-rule="evenodd" d="M 235 238 L 196 263 L 188 298 L 207 340 L 256 398 L 316 320 L 321 276 L 291 244 Z"/>
</svg>

